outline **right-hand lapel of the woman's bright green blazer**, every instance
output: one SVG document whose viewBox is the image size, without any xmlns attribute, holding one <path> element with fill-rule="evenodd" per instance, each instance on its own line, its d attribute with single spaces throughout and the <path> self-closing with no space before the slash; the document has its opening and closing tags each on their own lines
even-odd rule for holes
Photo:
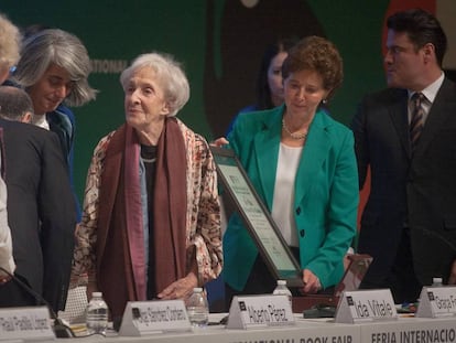
<svg viewBox="0 0 456 343">
<path fill-rule="evenodd" d="M 319 170 L 327 159 L 332 141 L 328 128 L 332 125 L 330 117 L 323 110 L 317 110 L 308 130 L 300 165 L 295 179 L 295 204 L 300 204 L 308 194 L 310 187 L 318 182 Z"/>
</svg>

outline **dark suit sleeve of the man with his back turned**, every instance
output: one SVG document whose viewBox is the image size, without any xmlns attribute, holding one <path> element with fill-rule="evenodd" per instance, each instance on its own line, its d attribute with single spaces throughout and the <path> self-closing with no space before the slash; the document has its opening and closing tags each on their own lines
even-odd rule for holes
<svg viewBox="0 0 456 343">
<path fill-rule="evenodd" d="M 45 133 L 37 192 L 43 251 L 43 296 L 55 311 L 64 310 L 74 249 L 76 213 L 59 141 Z M 47 135 L 50 133 L 50 135 Z"/>
</svg>

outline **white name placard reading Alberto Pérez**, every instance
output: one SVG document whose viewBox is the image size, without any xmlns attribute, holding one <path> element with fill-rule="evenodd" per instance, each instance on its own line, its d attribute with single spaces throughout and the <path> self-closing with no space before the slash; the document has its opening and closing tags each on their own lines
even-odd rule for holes
<svg viewBox="0 0 456 343">
<path fill-rule="evenodd" d="M 294 324 L 293 311 L 286 296 L 247 296 L 232 298 L 227 329 Z"/>
</svg>

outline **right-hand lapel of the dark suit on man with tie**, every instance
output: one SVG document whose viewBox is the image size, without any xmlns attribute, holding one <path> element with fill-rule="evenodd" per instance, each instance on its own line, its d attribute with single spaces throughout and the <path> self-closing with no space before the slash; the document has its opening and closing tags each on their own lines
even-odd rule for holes
<svg viewBox="0 0 456 343">
<path fill-rule="evenodd" d="M 444 79 L 442 87 L 432 104 L 426 122 L 416 146 L 415 154 L 422 154 L 428 147 L 430 142 L 437 135 L 442 126 L 447 122 L 449 117 L 455 115 L 456 93 L 452 82 Z"/>
</svg>

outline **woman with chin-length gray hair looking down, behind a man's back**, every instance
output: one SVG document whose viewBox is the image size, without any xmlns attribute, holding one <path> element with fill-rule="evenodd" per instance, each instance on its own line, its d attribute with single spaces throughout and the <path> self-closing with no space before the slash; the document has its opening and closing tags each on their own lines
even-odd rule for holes
<svg viewBox="0 0 456 343">
<path fill-rule="evenodd" d="M 73 184 L 75 118 L 66 106 L 95 99 L 88 84 L 91 66 L 83 42 L 72 33 L 47 29 L 26 37 L 12 81 L 33 101 L 34 125 L 57 133 Z M 76 204 L 77 197 L 75 195 Z M 79 216 L 79 205 L 77 204 Z"/>
</svg>

